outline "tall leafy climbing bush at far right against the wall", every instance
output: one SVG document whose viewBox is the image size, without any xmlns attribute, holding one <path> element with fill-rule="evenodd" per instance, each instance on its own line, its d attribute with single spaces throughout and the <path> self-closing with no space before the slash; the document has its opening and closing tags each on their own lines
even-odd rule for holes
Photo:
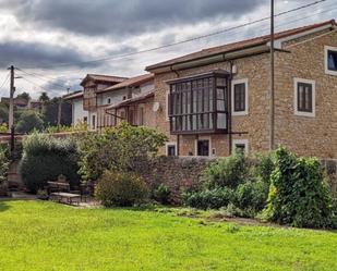
<svg viewBox="0 0 337 271">
<path fill-rule="evenodd" d="M 332 196 L 317 159 L 298 158 L 285 148 L 276 151 L 265 215 L 298 227 L 332 225 Z"/>
</svg>

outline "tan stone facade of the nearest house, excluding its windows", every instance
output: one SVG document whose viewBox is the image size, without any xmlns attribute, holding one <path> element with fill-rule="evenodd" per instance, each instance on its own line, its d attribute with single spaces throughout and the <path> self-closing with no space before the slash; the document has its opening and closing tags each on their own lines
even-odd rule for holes
<svg viewBox="0 0 337 271">
<path fill-rule="evenodd" d="M 291 45 L 292 44 L 292 45 Z M 291 46 L 290 46 L 291 45 Z M 304 38 L 282 44 L 275 53 L 275 141 L 300 156 L 337 158 L 337 76 L 325 74 L 324 46 L 337 47 L 337 33 L 316 32 Z M 237 67 L 232 79 L 248 79 L 249 110 L 245 115 L 232 115 L 232 140 L 244 139 L 249 153 L 269 150 L 269 53 L 233 59 Z M 195 156 L 197 138 L 210 139 L 210 156 L 229 155 L 228 134 L 170 135 L 167 116 L 167 81 L 194 76 L 213 70 L 230 72 L 230 62 L 222 61 L 193 69 L 155 74 L 155 101 L 160 103 L 156 127 L 171 143 L 179 141 L 180 156 Z M 315 81 L 315 116 L 294 114 L 294 78 Z M 160 153 L 166 150 L 163 148 Z"/>
</svg>

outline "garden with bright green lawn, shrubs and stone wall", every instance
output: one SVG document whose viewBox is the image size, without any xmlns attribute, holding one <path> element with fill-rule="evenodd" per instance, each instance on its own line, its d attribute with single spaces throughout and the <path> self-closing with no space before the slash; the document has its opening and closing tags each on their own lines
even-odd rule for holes
<svg viewBox="0 0 337 271">
<path fill-rule="evenodd" d="M 181 162 L 157 156 L 166 140 L 127 123 L 27 136 L 19 157 L 31 194 L 46 195 L 48 180 L 62 175 L 74 190 L 95 183 L 100 206 L 0 201 L 0 267 L 337 270 L 337 205 L 316 158 L 280 147 Z M 0 149 L 0 192 L 13 159 Z"/>
</svg>

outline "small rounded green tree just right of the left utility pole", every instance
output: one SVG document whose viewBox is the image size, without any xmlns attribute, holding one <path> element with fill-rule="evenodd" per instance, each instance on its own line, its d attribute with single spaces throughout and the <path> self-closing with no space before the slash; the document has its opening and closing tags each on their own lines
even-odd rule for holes
<svg viewBox="0 0 337 271">
<path fill-rule="evenodd" d="M 44 121 L 39 114 L 35 111 L 25 111 L 21 114 L 21 119 L 16 124 L 16 131 L 19 133 L 29 133 L 34 130 L 43 130 Z"/>
</svg>

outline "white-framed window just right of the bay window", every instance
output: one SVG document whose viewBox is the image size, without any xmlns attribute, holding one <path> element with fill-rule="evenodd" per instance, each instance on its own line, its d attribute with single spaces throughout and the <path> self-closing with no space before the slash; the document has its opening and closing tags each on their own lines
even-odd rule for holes
<svg viewBox="0 0 337 271">
<path fill-rule="evenodd" d="M 232 81 L 231 108 L 232 115 L 248 114 L 248 79 Z"/>
</svg>

